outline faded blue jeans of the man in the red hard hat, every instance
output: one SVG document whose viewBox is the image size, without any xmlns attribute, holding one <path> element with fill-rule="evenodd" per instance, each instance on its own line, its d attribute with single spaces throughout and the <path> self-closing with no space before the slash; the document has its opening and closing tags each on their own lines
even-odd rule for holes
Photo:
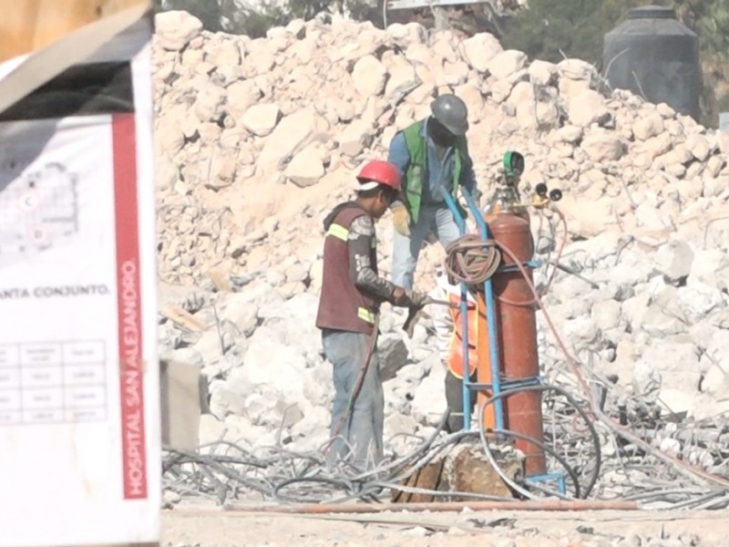
<svg viewBox="0 0 729 547">
<path fill-rule="evenodd" d="M 372 470 L 383 459 L 385 396 L 380 379 L 377 346 L 370 357 L 359 394 L 350 409 L 350 398 L 360 376 L 370 335 L 323 329 L 324 356 L 333 365 L 334 405 L 330 465 L 344 459 L 358 470 Z M 344 422 L 343 422 L 344 420 Z"/>
</svg>

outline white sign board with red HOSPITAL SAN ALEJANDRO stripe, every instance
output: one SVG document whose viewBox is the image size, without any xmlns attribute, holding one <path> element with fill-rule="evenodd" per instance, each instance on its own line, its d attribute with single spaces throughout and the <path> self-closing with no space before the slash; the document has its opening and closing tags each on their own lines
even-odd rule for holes
<svg viewBox="0 0 729 547">
<path fill-rule="evenodd" d="M 159 542 L 150 38 L 0 113 L 0 546 Z"/>
</svg>

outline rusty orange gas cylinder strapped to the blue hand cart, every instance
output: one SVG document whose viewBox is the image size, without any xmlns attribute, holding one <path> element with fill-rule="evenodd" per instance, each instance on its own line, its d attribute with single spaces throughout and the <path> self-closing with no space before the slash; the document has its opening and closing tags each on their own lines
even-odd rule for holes
<svg viewBox="0 0 729 547">
<path fill-rule="evenodd" d="M 528 214 L 498 213 L 490 219 L 488 228 L 491 237 L 513 253 L 519 262 L 527 263 L 532 259 L 534 247 Z M 502 265 L 513 263 L 508 253 L 502 251 Z M 502 382 L 539 376 L 536 304 L 529 288 L 531 271 L 526 269 L 529 282 L 519 270 L 498 272 L 492 277 Z M 479 342 L 481 339 L 479 337 Z M 542 442 L 544 431 L 539 392 L 524 391 L 507 397 L 504 403 L 506 428 Z M 527 457 L 528 476 L 546 472 L 543 449 L 523 439 L 516 439 L 516 446 Z"/>
</svg>

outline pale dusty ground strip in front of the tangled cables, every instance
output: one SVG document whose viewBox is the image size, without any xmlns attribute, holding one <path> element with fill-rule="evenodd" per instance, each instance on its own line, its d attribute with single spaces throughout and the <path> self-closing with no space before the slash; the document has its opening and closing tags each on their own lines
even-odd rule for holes
<svg viewBox="0 0 729 547">
<path fill-rule="evenodd" d="M 162 515 L 162 545 L 172 547 L 729 545 L 727 511 L 385 512 L 311 518 L 178 507 Z M 343 518 L 348 520 L 334 520 Z"/>
</svg>

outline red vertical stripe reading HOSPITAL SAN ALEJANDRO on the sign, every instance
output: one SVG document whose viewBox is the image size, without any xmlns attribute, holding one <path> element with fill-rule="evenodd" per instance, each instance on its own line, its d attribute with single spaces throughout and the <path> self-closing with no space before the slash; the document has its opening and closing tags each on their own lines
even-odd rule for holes
<svg viewBox="0 0 729 547">
<path fill-rule="evenodd" d="M 134 114 L 119 114 L 112 118 L 121 447 L 125 500 L 147 498 L 135 130 Z"/>
</svg>

